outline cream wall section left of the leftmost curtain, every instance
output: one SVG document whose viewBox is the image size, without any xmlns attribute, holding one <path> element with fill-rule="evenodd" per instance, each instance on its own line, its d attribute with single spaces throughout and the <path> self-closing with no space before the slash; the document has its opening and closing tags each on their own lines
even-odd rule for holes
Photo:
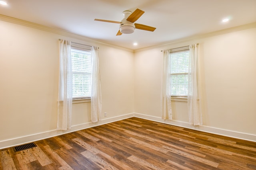
<svg viewBox="0 0 256 170">
<path fill-rule="evenodd" d="M 0 21 L 1 139 L 56 129 L 58 35 Z"/>
</svg>

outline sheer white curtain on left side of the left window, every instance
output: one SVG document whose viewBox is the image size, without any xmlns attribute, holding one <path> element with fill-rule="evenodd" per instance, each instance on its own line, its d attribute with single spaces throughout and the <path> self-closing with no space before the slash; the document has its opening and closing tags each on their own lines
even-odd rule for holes
<svg viewBox="0 0 256 170">
<path fill-rule="evenodd" d="M 59 40 L 59 93 L 57 130 L 71 128 L 72 61 L 71 42 Z"/>
</svg>

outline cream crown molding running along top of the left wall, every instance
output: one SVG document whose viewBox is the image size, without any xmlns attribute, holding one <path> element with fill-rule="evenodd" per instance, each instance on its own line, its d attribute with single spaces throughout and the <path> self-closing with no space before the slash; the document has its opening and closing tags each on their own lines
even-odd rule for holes
<svg viewBox="0 0 256 170">
<path fill-rule="evenodd" d="M 40 25 L 40 24 L 37 24 L 37 23 L 30 22 L 30 21 L 25 21 L 25 20 L 20 20 L 18 18 L 12 18 L 12 17 L 9 17 L 9 16 L 4 16 L 2 14 L 0 14 L 0 20 L 10 22 L 10 23 L 15 23 L 15 24 L 18 24 L 18 25 L 23 25 L 23 26 L 26 26 L 26 27 L 40 29 L 42 31 L 47 31 L 47 32 L 50 32 L 50 33 L 55 33 L 55 34 L 63 35 L 63 36 L 66 36 L 66 37 L 71 37 L 71 38 L 87 41 L 89 43 L 95 43 L 95 44 L 104 45 L 104 46 L 107 46 L 107 47 L 112 47 L 112 48 L 115 48 L 115 49 L 121 49 L 121 50 L 124 50 L 124 51 L 134 53 L 133 49 L 128 49 L 128 48 L 121 47 L 121 46 L 118 46 L 118 45 L 113 45 L 113 44 L 110 44 L 110 43 L 105 42 L 105 41 L 100 41 L 98 39 L 93 39 L 93 38 L 86 37 L 86 36 L 83 36 L 83 35 L 79 35 L 79 34 L 76 34 L 76 33 L 64 31 L 62 29 L 47 27 L 47 26 L 44 26 L 44 25 Z"/>
</svg>

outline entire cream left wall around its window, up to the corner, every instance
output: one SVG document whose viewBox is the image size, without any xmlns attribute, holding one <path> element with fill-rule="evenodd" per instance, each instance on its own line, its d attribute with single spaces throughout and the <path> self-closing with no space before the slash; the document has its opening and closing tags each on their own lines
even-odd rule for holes
<svg viewBox="0 0 256 170">
<path fill-rule="evenodd" d="M 0 148 L 56 130 L 59 38 L 100 48 L 102 119 L 133 113 L 133 52 L 0 21 Z M 86 123 L 90 102 L 73 104 L 72 126 Z"/>
</svg>

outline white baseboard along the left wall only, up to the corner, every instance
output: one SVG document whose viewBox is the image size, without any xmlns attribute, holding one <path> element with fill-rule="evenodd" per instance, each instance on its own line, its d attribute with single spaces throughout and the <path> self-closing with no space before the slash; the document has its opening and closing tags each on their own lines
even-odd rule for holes
<svg viewBox="0 0 256 170">
<path fill-rule="evenodd" d="M 14 146 L 17 146 L 17 145 L 23 145 L 25 143 L 31 143 L 31 142 L 39 141 L 39 140 L 46 139 L 46 138 L 49 138 L 49 137 L 63 135 L 65 133 L 70 133 L 70 132 L 79 131 L 79 130 L 82 130 L 82 129 L 87 129 L 87 128 L 98 126 L 98 125 L 107 124 L 107 123 L 111 123 L 111 122 L 114 122 L 114 121 L 127 119 L 129 117 L 134 117 L 134 113 L 129 113 L 129 114 L 126 114 L 126 115 L 121 115 L 121 116 L 111 117 L 111 118 L 107 118 L 107 119 L 102 119 L 101 121 L 98 121 L 96 123 L 88 122 L 88 123 L 83 123 L 83 124 L 80 124 L 80 125 L 74 125 L 74 126 L 71 127 L 71 129 L 68 129 L 67 131 L 52 130 L 52 131 L 46 131 L 46 132 L 33 134 L 33 135 L 28 135 L 28 136 L 24 136 L 24 137 L 18 137 L 18 138 L 15 138 L 15 139 L 8 139 L 6 141 L 0 141 L 0 149 L 14 147 Z"/>
</svg>

